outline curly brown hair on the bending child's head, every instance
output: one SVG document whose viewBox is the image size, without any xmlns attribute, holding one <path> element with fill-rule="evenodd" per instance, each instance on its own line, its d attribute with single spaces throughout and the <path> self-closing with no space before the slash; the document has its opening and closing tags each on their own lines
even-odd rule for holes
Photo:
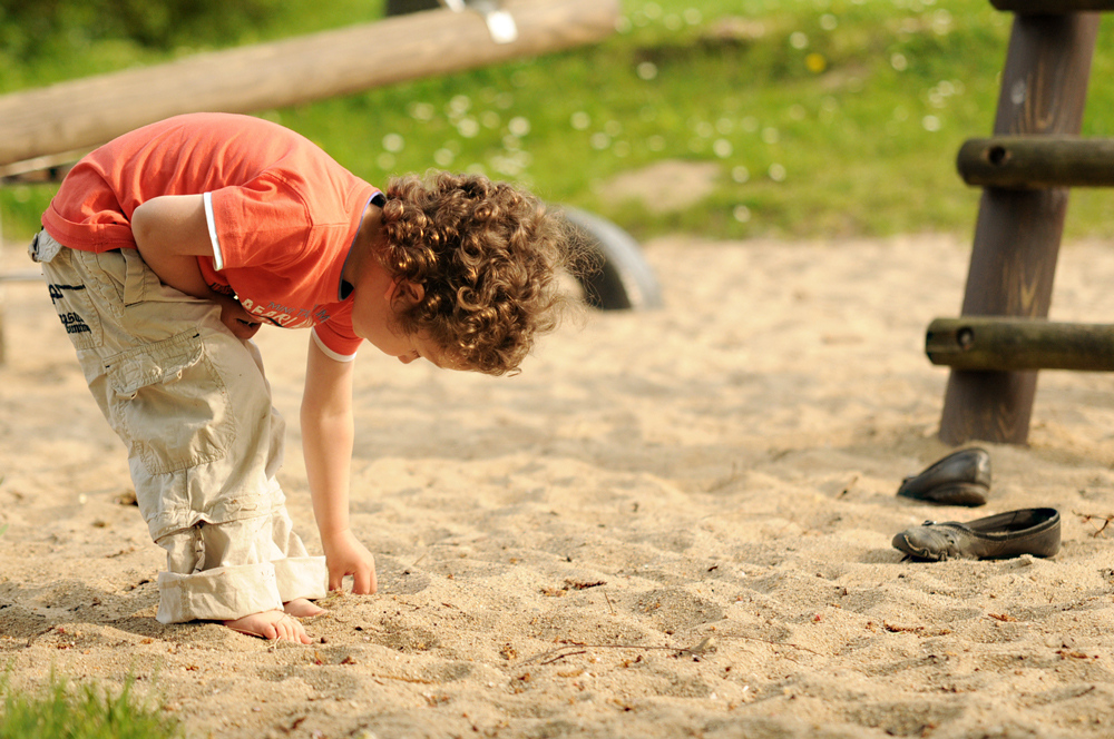
<svg viewBox="0 0 1114 739">
<path fill-rule="evenodd" d="M 569 304 L 558 289 L 558 270 L 575 262 L 568 223 L 534 195 L 480 175 L 407 175 L 385 195 L 380 259 L 424 289 L 400 309 L 395 329 L 427 336 L 462 368 L 517 372 Z"/>
</svg>

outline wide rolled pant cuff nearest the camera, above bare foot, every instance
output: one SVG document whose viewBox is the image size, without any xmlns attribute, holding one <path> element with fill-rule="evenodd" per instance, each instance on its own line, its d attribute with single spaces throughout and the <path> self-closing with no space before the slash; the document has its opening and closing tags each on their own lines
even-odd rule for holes
<svg viewBox="0 0 1114 739">
<path fill-rule="evenodd" d="M 242 564 L 194 574 L 158 573 L 159 623 L 228 621 L 282 610 L 275 566 Z"/>
</svg>

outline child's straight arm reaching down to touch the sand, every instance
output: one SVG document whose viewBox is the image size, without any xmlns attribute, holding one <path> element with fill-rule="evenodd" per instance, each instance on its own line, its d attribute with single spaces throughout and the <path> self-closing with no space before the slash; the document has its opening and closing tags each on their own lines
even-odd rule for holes
<svg viewBox="0 0 1114 739">
<path fill-rule="evenodd" d="M 352 462 L 352 362 L 336 362 L 310 338 L 302 394 L 302 451 L 329 566 L 329 589 L 340 590 L 345 574 L 352 591 L 373 593 L 375 560 L 349 526 L 349 474 Z"/>
</svg>

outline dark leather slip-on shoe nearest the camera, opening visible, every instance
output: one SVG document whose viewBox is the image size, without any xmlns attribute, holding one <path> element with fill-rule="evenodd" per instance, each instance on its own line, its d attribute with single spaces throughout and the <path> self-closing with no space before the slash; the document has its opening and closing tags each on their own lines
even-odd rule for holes
<svg viewBox="0 0 1114 739">
<path fill-rule="evenodd" d="M 1000 560 L 1059 551 L 1056 509 L 1022 509 L 968 523 L 926 521 L 893 538 L 893 548 L 913 560 Z"/>
</svg>

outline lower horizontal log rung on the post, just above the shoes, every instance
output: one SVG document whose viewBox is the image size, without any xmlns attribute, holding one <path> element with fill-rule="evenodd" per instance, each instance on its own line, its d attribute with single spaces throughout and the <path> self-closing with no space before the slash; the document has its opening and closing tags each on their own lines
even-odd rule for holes
<svg viewBox="0 0 1114 739">
<path fill-rule="evenodd" d="M 1114 325 L 1034 318 L 937 318 L 925 335 L 932 364 L 952 370 L 1114 371 Z"/>
</svg>

